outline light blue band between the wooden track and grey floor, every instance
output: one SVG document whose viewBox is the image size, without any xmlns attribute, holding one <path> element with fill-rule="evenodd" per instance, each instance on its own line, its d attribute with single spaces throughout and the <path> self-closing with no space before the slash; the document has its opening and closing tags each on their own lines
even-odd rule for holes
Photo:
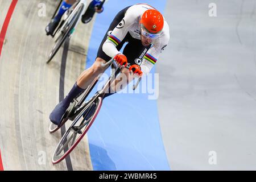
<svg viewBox="0 0 256 182">
<path fill-rule="evenodd" d="M 101 40 L 114 16 L 135 3 L 142 2 L 109 0 L 105 4 L 104 13 L 98 15 L 94 23 L 86 67 L 93 64 Z M 162 13 L 166 5 L 166 1 L 143 3 L 154 6 Z M 89 130 L 88 138 L 93 169 L 96 171 L 170 170 L 156 100 L 148 100 L 148 94 L 115 94 L 106 98 Z"/>
</svg>

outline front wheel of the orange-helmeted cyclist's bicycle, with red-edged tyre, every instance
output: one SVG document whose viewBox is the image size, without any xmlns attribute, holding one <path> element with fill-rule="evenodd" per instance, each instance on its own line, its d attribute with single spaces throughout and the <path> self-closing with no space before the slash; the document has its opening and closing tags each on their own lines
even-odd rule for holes
<svg viewBox="0 0 256 182">
<path fill-rule="evenodd" d="M 82 137 L 87 133 L 90 126 L 96 119 L 102 105 L 102 97 L 96 98 L 89 107 L 77 116 L 75 121 L 65 132 L 60 142 L 57 144 L 55 152 L 52 156 L 52 163 L 61 162 L 72 150 L 79 144 Z"/>
</svg>

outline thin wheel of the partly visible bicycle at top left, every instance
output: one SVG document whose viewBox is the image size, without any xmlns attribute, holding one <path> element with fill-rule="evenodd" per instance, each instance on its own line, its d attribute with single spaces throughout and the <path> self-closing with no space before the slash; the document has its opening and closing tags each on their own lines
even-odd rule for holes
<svg viewBox="0 0 256 182">
<path fill-rule="evenodd" d="M 65 42 L 67 37 L 72 34 L 73 28 L 75 27 L 77 21 L 79 20 L 83 8 L 84 8 L 84 5 L 80 4 L 79 7 L 76 9 L 76 12 L 73 14 L 73 17 L 71 17 L 71 21 L 67 24 L 64 23 L 65 27 L 60 27 L 59 29 L 60 32 L 57 33 L 59 34 L 59 36 L 56 39 L 56 43 L 53 46 L 52 51 L 49 53 L 49 57 L 46 62 L 47 64 L 53 59 L 57 51 L 59 51 L 61 45 Z M 68 20 L 69 18 L 66 21 Z"/>
</svg>

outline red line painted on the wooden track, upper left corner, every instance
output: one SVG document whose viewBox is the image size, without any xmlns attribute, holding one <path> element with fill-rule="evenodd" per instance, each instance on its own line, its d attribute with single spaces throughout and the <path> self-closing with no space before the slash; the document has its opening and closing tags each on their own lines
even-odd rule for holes
<svg viewBox="0 0 256 182">
<path fill-rule="evenodd" d="M 2 27 L 2 30 L 0 33 L 0 57 L 1 57 L 1 53 L 2 53 L 3 42 L 5 41 L 6 31 L 9 26 L 9 22 L 11 20 L 11 15 L 13 15 L 13 11 L 15 9 L 17 2 L 18 2 L 18 0 L 13 0 L 11 2 L 11 5 L 9 7 L 9 10 L 8 10 L 6 18 L 5 18 L 5 22 L 3 22 L 3 27 Z"/>
</svg>

